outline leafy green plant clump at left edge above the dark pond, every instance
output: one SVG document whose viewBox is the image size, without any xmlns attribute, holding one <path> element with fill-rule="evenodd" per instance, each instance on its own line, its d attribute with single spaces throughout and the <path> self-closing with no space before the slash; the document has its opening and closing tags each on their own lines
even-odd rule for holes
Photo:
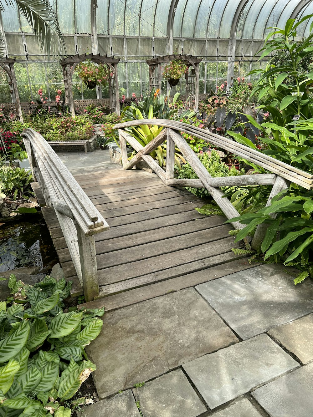
<svg viewBox="0 0 313 417">
<path fill-rule="evenodd" d="M 5 195 L 13 195 L 13 199 L 22 196 L 33 196 L 30 188 L 33 176 L 25 168 L 0 166 L 0 192 Z"/>
</svg>

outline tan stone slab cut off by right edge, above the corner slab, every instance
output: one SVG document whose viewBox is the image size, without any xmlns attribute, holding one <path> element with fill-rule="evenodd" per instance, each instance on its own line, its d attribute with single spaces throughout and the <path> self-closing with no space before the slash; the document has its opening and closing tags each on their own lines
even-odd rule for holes
<svg viewBox="0 0 313 417">
<path fill-rule="evenodd" d="M 313 314 L 269 330 L 268 334 L 303 364 L 313 360 Z"/>
</svg>

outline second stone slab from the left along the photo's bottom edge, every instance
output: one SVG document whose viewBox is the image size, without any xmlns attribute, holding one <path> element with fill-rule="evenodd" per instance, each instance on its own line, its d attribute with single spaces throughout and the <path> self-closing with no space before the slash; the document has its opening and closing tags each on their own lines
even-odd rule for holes
<svg viewBox="0 0 313 417">
<path fill-rule="evenodd" d="M 133 389 L 144 417 L 198 417 L 207 411 L 181 369 Z"/>
</svg>

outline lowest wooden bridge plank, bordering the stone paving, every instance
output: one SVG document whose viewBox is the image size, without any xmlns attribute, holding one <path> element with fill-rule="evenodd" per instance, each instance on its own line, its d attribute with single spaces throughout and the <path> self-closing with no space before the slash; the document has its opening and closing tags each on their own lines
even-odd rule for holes
<svg viewBox="0 0 313 417">
<path fill-rule="evenodd" d="M 257 266 L 257 264 L 250 265 L 247 261 L 245 261 L 245 259 L 237 259 L 234 261 L 233 259 L 230 259 L 228 255 L 231 254 L 228 252 L 228 254 L 224 255 L 224 258 L 220 256 L 218 265 L 203 270 L 201 274 L 196 272 L 195 274 L 178 276 L 177 278 L 169 279 L 167 281 L 132 289 L 120 294 L 104 297 L 102 299 L 96 299 L 86 304 L 78 304 L 78 309 L 95 309 L 104 307 L 106 311 L 111 311 L 168 294 L 172 291 L 179 291 L 180 289 L 196 286 L 209 281 L 210 279 L 221 278 L 222 276 Z"/>
</svg>

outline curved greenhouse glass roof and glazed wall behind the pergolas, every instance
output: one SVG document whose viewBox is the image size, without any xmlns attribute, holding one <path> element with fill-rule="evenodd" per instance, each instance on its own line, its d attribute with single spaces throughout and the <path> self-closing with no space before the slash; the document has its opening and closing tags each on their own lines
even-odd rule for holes
<svg viewBox="0 0 313 417">
<path fill-rule="evenodd" d="M 203 57 L 199 92 L 210 92 L 219 83 L 263 65 L 255 54 L 269 27 L 283 27 L 289 18 L 313 13 L 313 0 L 50 0 L 50 4 L 58 16 L 67 55 L 92 52 L 121 58 L 120 92 L 126 95 L 147 87 L 146 59 L 169 53 Z M 55 71 L 51 70 L 51 62 L 47 63 L 17 9 L 4 7 L 0 24 L 5 45 L 17 68 L 18 63 L 24 65 L 28 95 L 37 83 L 34 63 L 42 65 L 49 90 L 51 72 L 57 83 L 60 74 L 55 71 L 60 68 L 55 63 Z M 310 23 L 312 18 L 300 25 L 299 39 L 308 35 Z"/>
</svg>

